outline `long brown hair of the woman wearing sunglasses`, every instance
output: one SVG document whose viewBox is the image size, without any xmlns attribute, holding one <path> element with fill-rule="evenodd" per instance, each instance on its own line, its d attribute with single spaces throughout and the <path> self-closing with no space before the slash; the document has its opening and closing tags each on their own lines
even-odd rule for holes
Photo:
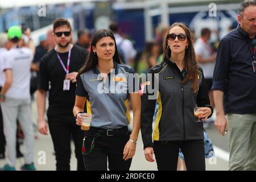
<svg viewBox="0 0 256 182">
<path fill-rule="evenodd" d="M 179 26 L 181 28 L 183 28 L 183 30 L 185 31 L 185 34 L 187 35 L 187 41 L 188 41 L 188 48 L 185 49 L 185 57 L 184 57 L 184 68 L 187 71 L 187 76 L 184 78 L 184 80 L 182 81 L 182 84 L 185 84 L 186 82 L 188 82 L 189 80 L 192 81 L 192 86 L 191 89 L 193 92 L 196 92 L 198 89 L 198 70 L 197 70 L 197 64 L 196 64 L 196 56 L 195 56 L 195 50 L 193 48 L 193 43 L 192 43 L 192 38 L 191 38 L 191 33 L 188 29 L 187 26 L 185 26 L 184 23 L 174 23 L 171 25 L 171 27 L 169 28 L 166 36 L 164 37 L 164 43 L 163 43 L 163 59 L 168 55 L 168 53 L 171 53 L 171 49 L 168 47 L 168 39 L 167 36 L 170 32 L 170 30 L 173 27 Z M 169 55 L 168 55 L 169 56 Z M 170 54 L 171 57 L 171 54 Z M 170 59 L 170 57 L 168 57 L 168 59 Z"/>
</svg>

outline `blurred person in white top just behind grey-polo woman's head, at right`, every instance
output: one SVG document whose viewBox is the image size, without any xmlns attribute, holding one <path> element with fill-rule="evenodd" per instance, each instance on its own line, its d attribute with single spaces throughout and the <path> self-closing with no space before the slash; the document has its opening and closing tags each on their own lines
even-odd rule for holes
<svg viewBox="0 0 256 182">
<path fill-rule="evenodd" d="M 117 23 L 111 23 L 109 29 L 114 33 L 119 56 L 121 56 L 122 62 L 127 65 L 134 64 L 134 59 L 137 51 L 134 49 L 133 43 L 129 39 L 122 38 L 122 36 L 119 34 L 119 28 Z"/>
</svg>

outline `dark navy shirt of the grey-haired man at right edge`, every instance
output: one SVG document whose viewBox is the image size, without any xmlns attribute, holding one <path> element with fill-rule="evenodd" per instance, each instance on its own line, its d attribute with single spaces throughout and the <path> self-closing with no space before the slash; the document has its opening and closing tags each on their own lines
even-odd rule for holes
<svg viewBox="0 0 256 182">
<path fill-rule="evenodd" d="M 226 114 L 256 113 L 256 73 L 250 47 L 253 50 L 251 39 L 240 25 L 218 46 L 212 90 L 224 92 Z"/>
</svg>

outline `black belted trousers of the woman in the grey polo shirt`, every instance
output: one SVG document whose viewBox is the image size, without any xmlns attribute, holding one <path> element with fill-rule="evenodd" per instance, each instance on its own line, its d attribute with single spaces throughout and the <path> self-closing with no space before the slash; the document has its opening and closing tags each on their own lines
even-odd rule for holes
<svg viewBox="0 0 256 182">
<path fill-rule="evenodd" d="M 123 160 L 123 148 L 130 138 L 127 127 L 125 130 L 126 132 L 108 133 L 114 136 L 106 135 L 104 130 L 98 137 L 95 137 L 99 131 L 97 129 L 85 131 L 84 147 L 88 154 L 83 156 L 86 171 L 107 171 L 107 161 L 110 171 L 129 171 L 131 159 Z"/>
</svg>

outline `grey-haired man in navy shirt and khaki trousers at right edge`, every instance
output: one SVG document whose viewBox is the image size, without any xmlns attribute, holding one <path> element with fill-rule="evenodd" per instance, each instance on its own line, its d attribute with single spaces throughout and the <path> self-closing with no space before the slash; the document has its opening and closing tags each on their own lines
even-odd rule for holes
<svg viewBox="0 0 256 182">
<path fill-rule="evenodd" d="M 222 136 L 228 129 L 229 170 L 256 170 L 256 0 L 243 1 L 237 19 L 218 47 L 214 125 Z"/>
</svg>

